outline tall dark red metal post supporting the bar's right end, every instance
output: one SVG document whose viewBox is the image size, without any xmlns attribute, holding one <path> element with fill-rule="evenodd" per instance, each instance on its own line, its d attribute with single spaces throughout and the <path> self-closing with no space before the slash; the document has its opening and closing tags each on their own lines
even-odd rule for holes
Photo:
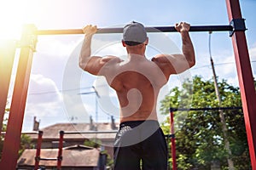
<svg viewBox="0 0 256 170">
<path fill-rule="evenodd" d="M 238 0 L 226 0 L 226 5 L 230 22 L 234 19 L 241 19 L 241 8 Z M 235 31 L 232 36 L 232 43 L 236 58 L 251 164 L 253 170 L 256 170 L 256 94 L 245 32 Z"/>
</svg>

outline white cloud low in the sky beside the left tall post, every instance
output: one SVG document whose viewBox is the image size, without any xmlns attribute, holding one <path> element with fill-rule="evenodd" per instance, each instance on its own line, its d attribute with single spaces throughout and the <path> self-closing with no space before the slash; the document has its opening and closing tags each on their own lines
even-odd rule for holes
<svg viewBox="0 0 256 170">
<path fill-rule="evenodd" d="M 40 120 L 40 127 L 67 121 L 60 91 L 53 80 L 43 75 L 31 75 L 23 130 L 32 130 L 33 116 Z"/>
</svg>

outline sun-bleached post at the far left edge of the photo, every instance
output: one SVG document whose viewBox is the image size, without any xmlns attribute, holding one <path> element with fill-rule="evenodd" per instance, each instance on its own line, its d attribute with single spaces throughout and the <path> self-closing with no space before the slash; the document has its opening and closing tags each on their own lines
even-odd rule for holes
<svg viewBox="0 0 256 170">
<path fill-rule="evenodd" d="M 15 41 L 0 42 L 0 133 L 9 92 L 9 82 L 15 60 Z"/>
</svg>

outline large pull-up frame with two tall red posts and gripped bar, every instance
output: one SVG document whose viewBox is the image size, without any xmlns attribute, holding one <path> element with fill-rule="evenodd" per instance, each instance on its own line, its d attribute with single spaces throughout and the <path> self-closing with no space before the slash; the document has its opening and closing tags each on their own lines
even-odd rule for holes
<svg viewBox="0 0 256 170">
<path fill-rule="evenodd" d="M 230 31 L 234 54 L 236 58 L 236 69 L 241 90 L 241 101 L 244 113 L 244 119 L 247 129 L 247 141 L 253 170 L 256 170 L 256 94 L 253 85 L 253 72 L 250 65 L 250 59 L 247 49 L 247 41 L 245 37 L 245 23 L 241 17 L 241 8 L 239 1 L 226 0 L 226 6 L 230 21 L 230 26 L 191 26 L 190 31 Z M 155 27 L 154 31 L 174 31 L 173 27 Z M 148 29 L 148 28 L 147 28 Z M 166 29 L 166 30 L 165 30 Z M 98 33 L 119 33 L 120 28 L 101 29 Z M 150 31 L 150 29 L 148 30 Z M 53 34 L 81 34 L 82 30 L 62 30 L 62 31 L 38 31 L 33 26 L 24 29 L 20 44 L 20 60 L 15 78 L 15 88 L 9 111 L 9 122 L 7 132 L 3 143 L 3 154 L 0 163 L 0 169 L 15 169 L 18 160 L 18 150 L 20 146 L 20 134 L 24 117 L 26 94 L 32 67 L 32 55 L 36 49 L 38 35 Z M 4 55 L 4 54 L 1 54 Z M 13 66 L 13 64 L 1 64 Z M 4 80 L 9 85 L 9 78 Z M 1 84 L 2 87 L 2 84 Z M 0 88 L 0 94 L 6 94 L 8 88 Z M 1 96 L 2 97 L 2 96 Z M 6 105 L 6 96 L 0 100 L 0 106 Z M 1 110 L 2 111 L 2 110 Z M 3 120 L 4 112 L 0 112 L 0 120 Z M 2 122 L 1 122 L 2 123 Z"/>
</svg>

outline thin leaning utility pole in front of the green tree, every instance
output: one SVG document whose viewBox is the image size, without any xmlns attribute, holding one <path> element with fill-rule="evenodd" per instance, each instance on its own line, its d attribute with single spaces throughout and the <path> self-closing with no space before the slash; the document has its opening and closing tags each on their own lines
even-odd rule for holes
<svg viewBox="0 0 256 170">
<path fill-rule="evenodd" d="M 222 105 L 221 97 L 220 97 L 219 90 L 218 90 L 218 82 L 217 82 L 217 77 L 216 77 L 216 72 L 215 72 L 214 63 L 213 63 L 213 59 L 212 59 L 212 52 L 211 52 L 211 34 L 212 34 L 212 31 L 209 31 L 209 54 L 210 54 L 210 60 L 211 60 L 211 65 L 212 65 L 212 74 L 213 74 L 215 94 L 218 99 L 218 106 L 221 107 L 221 105 Z M 225 148 L 225 150 L 228 151 L 228 154 L 229 154 L 229 157 L 228 157 L 229 169 L 235 170 L 234 162 L 230 158 L 232 156 L 232 152 L 230 150 L 230 141 L 228 139 L 228 134 L 227 134 L 228 128 L 227 128 L 226 121 L 225 121 L 224 111 L 218 110 L 218 112 L 219 112 L 220 122 L 222 125 L 222 132 L 223 132 L 223 136 L 224 136 L 224 148 Z"/>
</svg>

